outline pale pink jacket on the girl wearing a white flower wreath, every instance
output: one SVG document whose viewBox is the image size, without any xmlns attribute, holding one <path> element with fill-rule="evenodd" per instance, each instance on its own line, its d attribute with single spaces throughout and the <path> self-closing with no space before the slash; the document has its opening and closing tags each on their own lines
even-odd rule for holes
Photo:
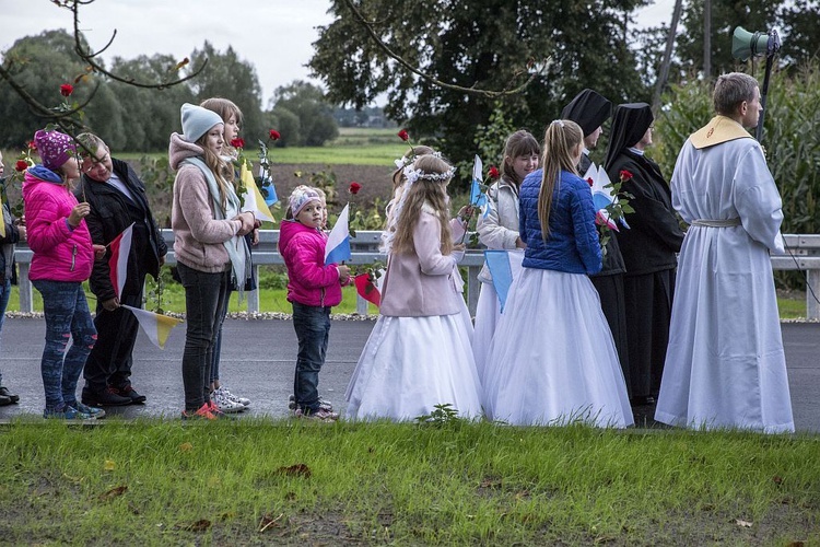
<svg viewBox="0 0 820 547">
<path fill-rule="evenodd" d="M 382 287 L 382 315 L 424 317 L 459 312 L 453 276 L 458 276 L 456 259 L 443 255 L 442 224 L 426 207 L 413 229 L 414 252 L 393 253 Z"/>
</svg>

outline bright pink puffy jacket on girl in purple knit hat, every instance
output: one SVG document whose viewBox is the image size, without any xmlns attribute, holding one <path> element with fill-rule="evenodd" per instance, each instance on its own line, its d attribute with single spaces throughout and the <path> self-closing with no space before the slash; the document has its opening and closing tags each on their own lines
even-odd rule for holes
<svg viewBox="0 0 820 547">
<path fill-rule="evenodd" d="M 34 252 L 28 279 L 78 282 L 89 279 L 94 265 L 89 226 L 82 220 L 75 229 L 69 229 L 67 220 L 77 198 L 59 176 L 40 165 L 26 171 L 23 201 L 28 247 Z"/>
</svg>

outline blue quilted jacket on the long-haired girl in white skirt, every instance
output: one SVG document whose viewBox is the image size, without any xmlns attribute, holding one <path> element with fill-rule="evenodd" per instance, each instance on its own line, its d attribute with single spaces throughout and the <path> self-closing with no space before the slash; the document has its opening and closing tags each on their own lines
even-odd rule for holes
<svg viewBox="0 0 820 547">
<path fill-rule="evenodd" d="M 538 221 L 538 193 L 543 171 L 538 170 L 522 183 L 519 233 L 527 249 L 524 266 L 570 274 L 597 274 L 601 268 L 600 244 L 595 229 L 595 206 L 589 185 L 570 172 L 561 172 L 550 211 L 550 237 L 541 237 Z"/>
</svg>

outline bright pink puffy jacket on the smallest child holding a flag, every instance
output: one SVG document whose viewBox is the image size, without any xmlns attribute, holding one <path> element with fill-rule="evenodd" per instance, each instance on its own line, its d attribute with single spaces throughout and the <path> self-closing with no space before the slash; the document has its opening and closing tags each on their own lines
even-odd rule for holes
<svg viewBox="0 0 820 547">
<path fill-rule="evenodd" d="M 279 253 L 288 267 L 288 301 L 308 306 L 335 306 L 341 302 L 336 264 L 325 266 L 327 236 L 295 220 L 279 226 Z"/>
</svg>

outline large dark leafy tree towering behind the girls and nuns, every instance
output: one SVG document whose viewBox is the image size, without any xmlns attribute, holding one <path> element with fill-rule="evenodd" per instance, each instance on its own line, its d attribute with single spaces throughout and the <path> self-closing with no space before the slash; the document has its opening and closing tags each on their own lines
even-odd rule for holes
<svg viewBox="0 0 820 547">
<path fill-rule="evenodd" d="M 471 156 L 477 128 L 496 105 L 515 126 L 540 135 L 583 88 L 595 88 L 613 102 L 649 98 L 628 39 L 631 13 L 644 0 L 359 3 L 382 44 L 350 2 L 333 0 L 338 19 L 319 27 L 308 63 L 327 84 L 328 98 L 361 108 L 386 94 L 390 118 L 408 120 L 413 135 L 429 136 L 450 158 Z M 523 93 L 488 96 L 462 90 L 509 90 L 532 78 L 539 66 L 543 70 Z"/>
</svg>

